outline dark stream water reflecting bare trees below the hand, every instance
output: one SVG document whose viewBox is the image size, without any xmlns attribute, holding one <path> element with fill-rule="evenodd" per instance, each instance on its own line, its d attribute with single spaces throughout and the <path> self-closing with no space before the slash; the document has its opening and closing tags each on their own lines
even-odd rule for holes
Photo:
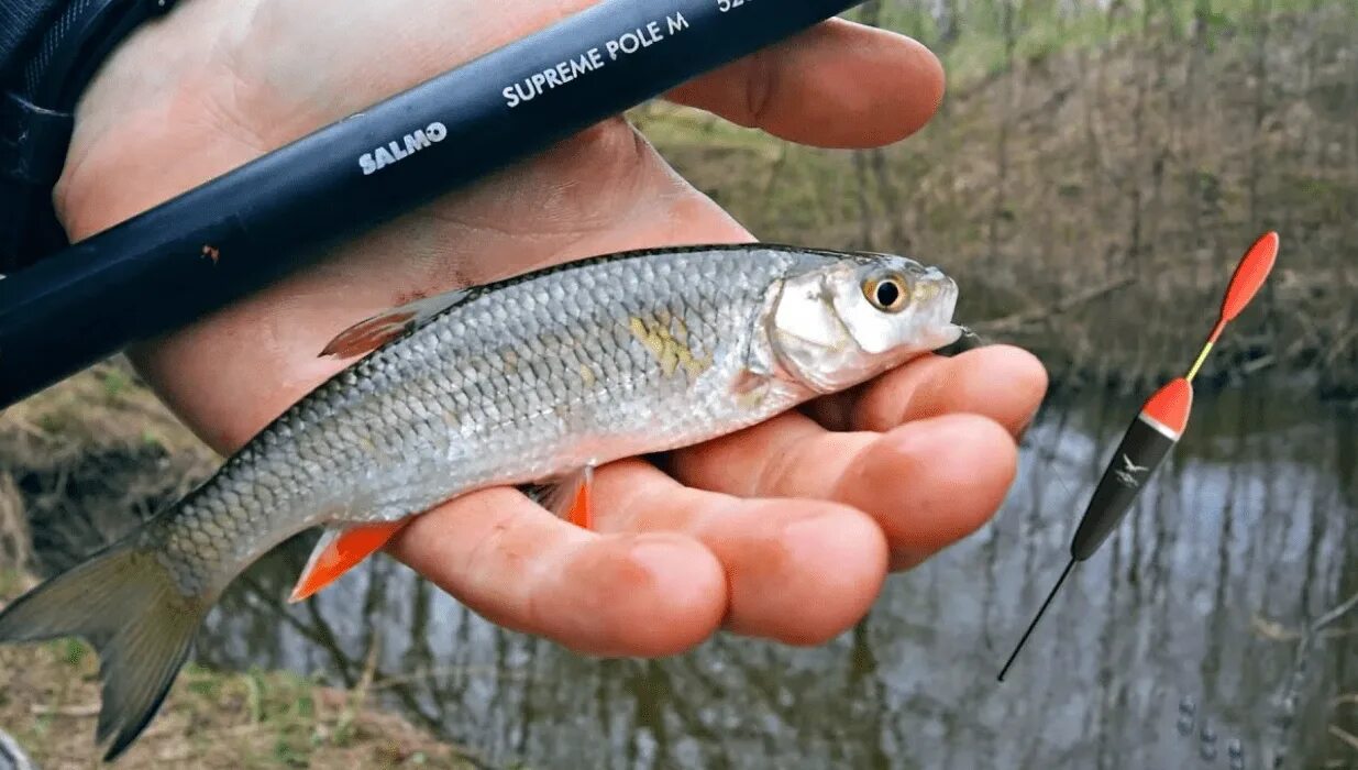
<svg viewBox="0 0 1358 770">
<path fill-rule="evenodd" d="M 1358 591 L 1358 420 L 1305 388 L 1199 394 L 1130 520 L 995 682 L 1137 406 L 1051 402 L 995 521 L 892 577 L 820 648 L 720 636 L 659 661 L 584 659 L 387 558 L 280 615 L 301 547 L 228 598 L 200 657 L 344 684 L 378 644 L 376 693 L 488 766 L 1353 766 L 1329 725 L 1358 721 L 1334 703 L 1358 690 L 1358 611 L 1304 646 L 1296 631 Z"/>
</svg>

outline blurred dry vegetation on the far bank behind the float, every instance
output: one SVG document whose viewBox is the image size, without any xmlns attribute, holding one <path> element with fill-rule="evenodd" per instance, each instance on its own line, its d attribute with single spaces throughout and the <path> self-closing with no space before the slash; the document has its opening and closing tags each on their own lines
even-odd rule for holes
<svg viewBox="0 0 1358 770">
<path fill-rule="evenodd" d="M 1058 384 L 1181 372 L 1266 230 L 1262 300 L 1203 372 L 1275 367 L 1358 395 L 1358 3 L 876 0 L 949 77 L 918 134 L 790 145 L 648 105 L 637 125 L 765 240 L 903 251 L 961 284 L 959 318 Z M 909 83 L 899 87 L 909 88 Z"/>
</svg>

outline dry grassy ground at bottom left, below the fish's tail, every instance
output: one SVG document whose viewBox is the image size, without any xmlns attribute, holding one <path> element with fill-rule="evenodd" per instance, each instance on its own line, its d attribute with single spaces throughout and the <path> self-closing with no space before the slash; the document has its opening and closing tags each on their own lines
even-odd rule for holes
<svg viewBox="0 0 1358 770">
<path fill-rule="evenodd" d="M 0 595 L 33 581 L 0 572 Z M 288 672 L 190 664 L 118 767 L 474 767 L 464 754 L 353 691 Z M 98 663 L 60 640 L 0 648 L 0 727 L 45 770 L 96 767 Z"/>
</svg>

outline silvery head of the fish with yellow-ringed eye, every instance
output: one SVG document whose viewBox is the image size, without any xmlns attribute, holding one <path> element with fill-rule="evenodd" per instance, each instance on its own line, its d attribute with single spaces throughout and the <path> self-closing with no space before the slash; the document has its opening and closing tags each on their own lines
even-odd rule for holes
<svg viewBox="0 0 1358 770">
<path fill-rule="evenodd" d="M 788 277 L 770 315 L 781 368 L 835 392 L 961 335 L 957 284 L 894 254 L 853 254 Z"/>
</svg>

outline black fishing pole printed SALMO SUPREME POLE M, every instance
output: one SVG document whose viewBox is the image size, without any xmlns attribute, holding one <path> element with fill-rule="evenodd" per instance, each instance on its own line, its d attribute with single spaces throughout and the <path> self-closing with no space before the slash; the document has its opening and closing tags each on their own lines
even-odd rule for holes
<svg viewBox="0 0 1358 770">
<path fill-rule="evenodd" d="M 0 280 L 0 409 L 862 0 L 604 0 Z"/>
</svg>

